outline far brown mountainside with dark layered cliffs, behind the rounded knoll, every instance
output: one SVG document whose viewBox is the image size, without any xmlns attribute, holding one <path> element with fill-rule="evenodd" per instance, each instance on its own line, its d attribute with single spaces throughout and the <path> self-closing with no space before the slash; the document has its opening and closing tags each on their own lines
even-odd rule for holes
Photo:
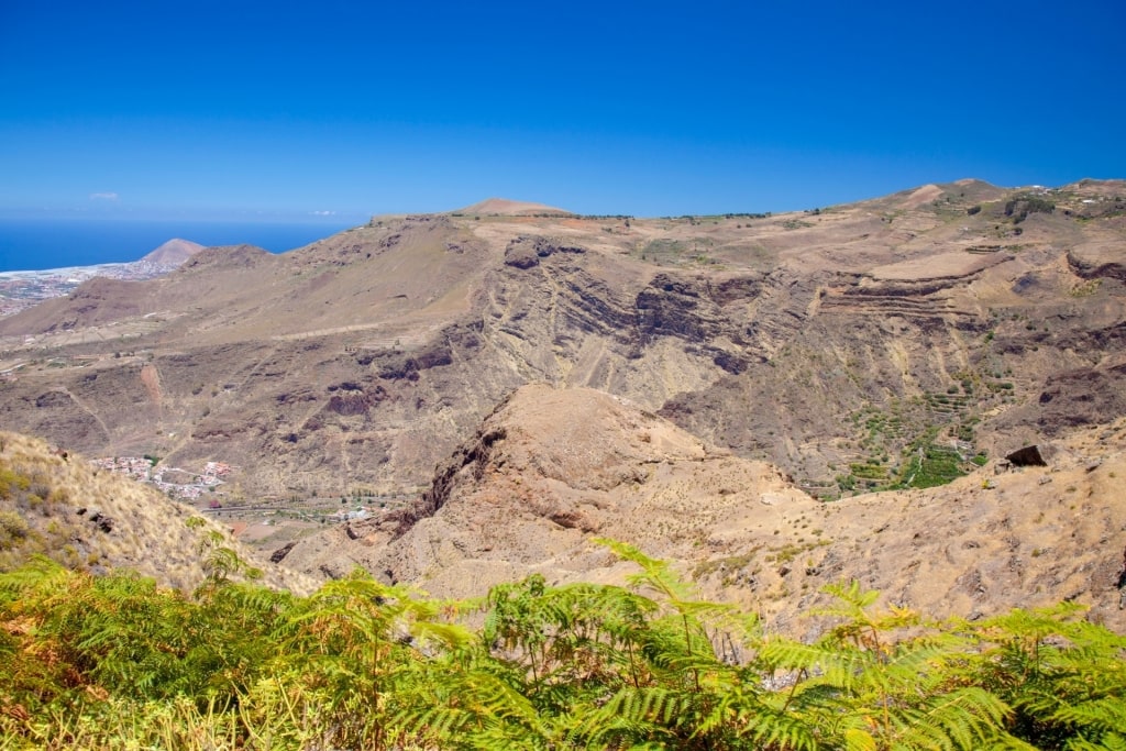
<svg viewBox="0 0 1126 751">
<path fill-rule="evenodd" d="M 128 305 L 56 301 L 65 331 L 0 322 L 21 366 L 0 418 L 91 455 L 224 461 L 247 495 L 409 494 L 547 383 L 834 494 L 894 479 L 920 440 L 965 459 L 1120 413 L 1119 187 L 1069 186 L 1019 223 L 1021 194 L 962 182 L 772 217 L 384 217 L 283 257 L 208 251 Z"/>
</svg>

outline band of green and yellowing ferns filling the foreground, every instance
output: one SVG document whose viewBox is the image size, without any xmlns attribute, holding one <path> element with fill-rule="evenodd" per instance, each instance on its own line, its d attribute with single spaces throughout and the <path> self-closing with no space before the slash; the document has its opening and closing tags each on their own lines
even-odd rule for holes
<svg viewBox="0 0 1126 751">
<path fill-rule="evenodd" d="M 812 643 L 694 598 L 542 576 L 439 604 L 366 575 L 195 597 L 45 560 L 0 575 L 5 748 L 1119 749 L 1126 638 L 1073 605 L 935 623 L 828 588 Z M 475 624 L 470 627 L 468 624 Z M 738 649 L 735 649 L 738 645 Z"/>
</svg>

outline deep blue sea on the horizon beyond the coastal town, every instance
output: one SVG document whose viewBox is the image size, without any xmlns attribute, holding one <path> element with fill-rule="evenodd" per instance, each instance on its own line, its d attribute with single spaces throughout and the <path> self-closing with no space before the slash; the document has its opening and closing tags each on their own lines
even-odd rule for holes
<svg viewBox="0 0 1126 751">
<path fill-rule="evenodd" d="M 0 271 L 38 271 L 135 261 L 172 238 L 200 245 L 248 243 L 275 253 L 302 248 L 352 224 L 0 220 Z"/>
</svg>

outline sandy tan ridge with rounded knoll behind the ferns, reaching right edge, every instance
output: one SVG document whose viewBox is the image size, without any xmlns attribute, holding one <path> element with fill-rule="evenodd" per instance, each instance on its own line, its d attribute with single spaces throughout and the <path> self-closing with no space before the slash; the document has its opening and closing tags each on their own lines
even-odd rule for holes
<svg viewBox="0 0 1126 751">
<path fill-rule="evenodd" d="M 991 462 L 948 485 L 815 501 L 619 397 L 525 386 L 444 463 L 414 506 L 293 547 L 287 565 L 359 565 L 438 597 L 542 573 L 622 581 L 592 537 L 678 563 L 768 627 L 813 627 L 826 583 L 976 618 L 1075 600 L 1126 629 L 1126 419 L 1040 445 L 1045 465 Z"/>
</svg>

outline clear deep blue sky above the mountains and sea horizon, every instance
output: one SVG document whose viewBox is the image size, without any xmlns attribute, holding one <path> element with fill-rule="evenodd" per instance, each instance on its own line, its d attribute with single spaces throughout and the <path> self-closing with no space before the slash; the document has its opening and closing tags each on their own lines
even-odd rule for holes
<svg viewBox="0 0 1126 751">
<path fill-rule="evenodd" d="M 1121 0 L 0 0 L 0 213 L 651 216 L 1120 178 L 1124 39 Z"/>
</svg>

